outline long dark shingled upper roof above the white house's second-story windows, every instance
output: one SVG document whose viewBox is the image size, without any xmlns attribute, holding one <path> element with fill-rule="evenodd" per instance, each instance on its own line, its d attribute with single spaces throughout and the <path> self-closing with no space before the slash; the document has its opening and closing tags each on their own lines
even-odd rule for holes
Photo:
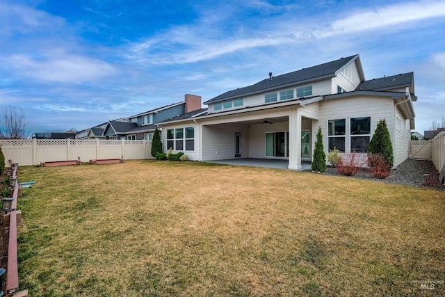
<svg viewBox="0 0 445 297">
<path fill-rule="evenodd" d="M 289 84 L 305 83 L 318 79 L 327 79 L 330 77 L 334 77 L 336 72 L 339 71 L 344 65 L 357 58 L 359 58 L 359 55 L 340 58 L 336 61 L 303 68 L 302 70 L 289 72 L 277 77 L 271 77 L 270 79 L 264 79 L 262 81 L 259 81 L 258 83 L 253 84 L 252 86 L 237 88 L 236 90 L 229 90 L 226 93 L 218 95 L 208 100 L 207 102 L 204 102 L 204 104 L 211 104 L 224 101 L 225 99 L 229 98 L 243 97 L 245 95 L 260 93 L 266 90 L 273 90 L 275 88 L 280 88 Z"/>
</svg>

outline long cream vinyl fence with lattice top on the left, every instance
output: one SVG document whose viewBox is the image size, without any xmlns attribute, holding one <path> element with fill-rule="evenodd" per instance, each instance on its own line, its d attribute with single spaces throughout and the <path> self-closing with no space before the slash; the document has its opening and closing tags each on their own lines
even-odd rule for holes
<svg viewBox="0 0 445 297">
<path fill-rule="evenodd" d="M 0 147 L 5 163 L 13 160 L 20 166 L 39 165 L 40 162 L 91 159 L 153 159 L 152 141 L 81 140 L 81 139 L 2 139 Z"/>
</svg>

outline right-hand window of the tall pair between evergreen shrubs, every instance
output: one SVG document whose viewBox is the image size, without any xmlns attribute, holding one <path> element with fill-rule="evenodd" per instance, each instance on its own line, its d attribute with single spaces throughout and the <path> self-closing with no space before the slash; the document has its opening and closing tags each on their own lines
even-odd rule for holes
<svg viewBox="0 0 445 297">
<path fill-rule="evenodd" d="M 369 139 L 371 138 L 371 118 L 350 119 L 350 151 L 368 152 Z"/>
</svg>

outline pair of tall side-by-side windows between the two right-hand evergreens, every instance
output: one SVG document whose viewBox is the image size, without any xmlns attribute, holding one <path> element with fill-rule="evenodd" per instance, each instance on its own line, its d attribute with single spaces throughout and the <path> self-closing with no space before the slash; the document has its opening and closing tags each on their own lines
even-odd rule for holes
<svg viewBox="0 0 445 297">
<path fill-rule="evenodd" d="M 371 117 L 327 121 L 328 150 L 366 153 L 370 139 Z"/>
</svg>

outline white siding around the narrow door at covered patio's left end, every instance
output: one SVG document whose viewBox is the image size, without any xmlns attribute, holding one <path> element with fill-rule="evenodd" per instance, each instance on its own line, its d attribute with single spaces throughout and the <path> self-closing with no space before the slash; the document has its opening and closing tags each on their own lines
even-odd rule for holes
<svg viewBox="0 0 445 297">
<path fill-rule="evenodd" d="M 234 159 L 235 133 L 241 133 L 241 158 L 248 158 L 248 125 L 202 125 L 202 161 Z"/>
</svg>

